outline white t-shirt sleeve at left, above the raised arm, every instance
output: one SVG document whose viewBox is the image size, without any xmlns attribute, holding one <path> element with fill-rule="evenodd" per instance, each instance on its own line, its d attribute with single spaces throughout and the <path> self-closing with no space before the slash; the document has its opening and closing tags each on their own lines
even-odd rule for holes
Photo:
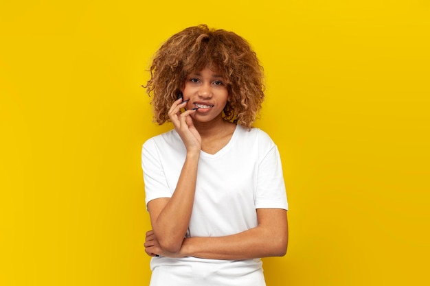
<svg viewBox="0 0 430 286">
<path fill-rule="evenodd" d="M 142 147 L 142 169 L 144 171 L 146 205 L 150 200 L 172 197 L 159 150 L 152 139 L 146 141 Z"/>
</svg>

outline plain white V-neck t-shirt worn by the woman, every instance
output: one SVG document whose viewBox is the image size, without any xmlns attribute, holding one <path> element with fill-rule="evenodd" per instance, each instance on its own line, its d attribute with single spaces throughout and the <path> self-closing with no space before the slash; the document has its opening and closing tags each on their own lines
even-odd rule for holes
<svg viewBox="0 0 430 286">
<path fill-rule="evenodd" d="M 185 154 L 175 130 L 144 143 L 146 204 L 172 196 Z M 265 132 L 238 125 L 229 143 L 216 154 L 201 151 L 187 237 L 219 237 L 256 227 L 256 208 L 288 209 L 280 155 Z M 265 285 L 261 265 L 260 259 L 153 257 L 150 285 L 260 286 Z"/>
</svg>

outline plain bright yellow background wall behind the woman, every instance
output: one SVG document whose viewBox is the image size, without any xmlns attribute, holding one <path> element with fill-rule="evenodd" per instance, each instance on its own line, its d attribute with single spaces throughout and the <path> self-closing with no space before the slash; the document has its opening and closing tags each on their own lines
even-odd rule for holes
<svg viewBox="0 0 430 286">
<path fill-rule="evenodd" d="M 150 57 L 199 23 L 249 40 L 282 155 L 267 284 L 429 285 L 430 4 L 1 1 L 0 285 L 148 285 Z M 172 284 L 173 285 L 173 284 Z"/>
</svg>

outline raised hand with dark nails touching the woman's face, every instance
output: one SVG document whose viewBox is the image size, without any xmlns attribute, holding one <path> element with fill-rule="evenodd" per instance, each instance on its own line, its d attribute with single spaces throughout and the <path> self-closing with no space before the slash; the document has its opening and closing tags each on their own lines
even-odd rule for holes
<svg viewBox="0 0 430 286">
<path fill-rule="evenodd" d="M 181 136 L 181 139 L 187 148 L 187 152 L 200 153 L 201 136 L 194 127 L 194 123 L 190 117 L 190 114 L 192 112 L 196 112 L 196 110 L 190 109 L 185 110 L 185 112 L 181 112 L 181 108 L 184 108 L 187 102 L 188 100 L 183 101 L 182 98 L 177 99 L 173 102 L 172 107 L 170 107 L 168 115 L 170 117 L 170 121 L 172 121 L 174 125 L 174 129 L 176 129 L 179 136 Z"/>
</svg>

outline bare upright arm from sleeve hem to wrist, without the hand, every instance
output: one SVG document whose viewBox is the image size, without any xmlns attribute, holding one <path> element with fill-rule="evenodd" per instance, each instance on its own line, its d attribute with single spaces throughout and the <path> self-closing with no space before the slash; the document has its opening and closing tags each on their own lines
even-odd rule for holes
<svg viewBox="0 0 430 286">
<path fill-rule="evenodd" d="M 152 229 L 160 245 L 170 252 L 179 250 L 190 224 L 198 163 L 198 154 L 187 154 L 172 198 L 163 206 L 148 205 Z"/>
</svg>

